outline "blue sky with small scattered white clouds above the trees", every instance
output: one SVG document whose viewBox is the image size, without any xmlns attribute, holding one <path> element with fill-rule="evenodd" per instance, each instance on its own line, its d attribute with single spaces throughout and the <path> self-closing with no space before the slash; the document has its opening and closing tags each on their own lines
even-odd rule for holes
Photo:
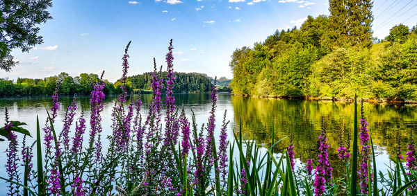
<svg viewBox="0 0 417 196">
<path fill-rule="evenodd" d="M 174 69 L 232 77 L 231 53 L 253 46 L 277 29 L 300 26 L 308 15 L 328 15 L 327 0 L 57 0 L 54 17 L 40 25 L 44 43 L 29 53 L 15 50 L 20 64 L 0 78 L 44 78 L 60 72 L 106 71 L 122 75 L 124 47 L 129 75 L 152 71 L 152 58 L 165 65 L 174 39 Z M 417 1 L 374 2 L 374 36 L 383 38 L 395 24 L 417 24 Z"/>
</svg>

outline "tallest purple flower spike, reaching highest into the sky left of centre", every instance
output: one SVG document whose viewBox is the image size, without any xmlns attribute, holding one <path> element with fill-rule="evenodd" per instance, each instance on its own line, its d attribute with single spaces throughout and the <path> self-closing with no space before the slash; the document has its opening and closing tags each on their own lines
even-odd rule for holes
<svg viewBox="0 0 417 196">
<path fill-rule="evenodd" d="M 165 139 L 164 145 L 167 148 L 170 148 L 170 145 L 175 145 L 177 143 L 178 133 L 175 132 L 175 118 L 174 118 L 174 109 L 175 109 L 175 98 L 174 98 L 174 56 L 172 55 L 172 39 L 170 40 L 170 46 L 168 47 L 168 53 L 165 55 L 165 62 L 167 62 L 167 87 L 166 87 L 166 96 L 165 96 L 165 106 L 167 107 L 166 118 L 165 118 Z"/>
</svg>

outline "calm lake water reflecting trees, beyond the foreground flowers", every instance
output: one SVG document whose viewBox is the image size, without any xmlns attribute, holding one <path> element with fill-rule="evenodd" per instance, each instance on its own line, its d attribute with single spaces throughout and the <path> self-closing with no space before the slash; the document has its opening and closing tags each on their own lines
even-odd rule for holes
<svg viewBox="0 0 417 196">
<path fill-rule="evenodd" d="M 149 104 L 152 102 L 152 95 L 142 95 L 143 109 L 142 115 L 147 115 Z M 198 126 L 208 121 L 208 112 L 211 109 L 210 94 L 189 94 L 176 95 L 178 107 L 185 107 L 188 117 L 190 109 L 193 109 L 197 118 Z M 104 101 L 104 111 L 102 112 L 104 135 L 111 134 L 111 110 L 115 97 L 106 98 Z M 62 127 L 65 109 L 72 102 L 72 97 L 60 98 L 60 112 L 56 120 L 56 130 Z M 85 107 L 85 116 L 89 114 L 89 97 L 77 98 L 79 105 Z M 4 110 L 8 107 L 10 120 L 23 121 L 28 124 L 26 128 L 35 136 L 36 116 L 39 116 L 40 125 L 43 126 L 47 118 L 46 108 L 51 107 L 50 97 L 35 98 L 2 98 L 0 99 L 0 118 L 4 118 Z M 360 106 L 359 111 L 360 111 Z M 405 150 L 409 138 L 415 136 L 417 128 L 417 107 L 413 106 L 389 106 L 374 105 L 365 103 L 363 105 L 364 114 L 368 120 L 368 129 L 373 138 L 377 154 L 377 168 L 386 170 L 390 164 L 389 158 L 394 157 L 397 151 L 397 137 L 401 136 L 402 154 Z M 318 102 L 308 100 L 279 100 L 275 98 L 248 98 L 243 96 L 231 96 L 229 94 L 219 94 L 216 110 L 216 132 L 218 139 L 220 126 L 224 111 L 227 110 L 227 120 L 229 140 L 233 139 L 233 131 L 238 133 L 239 122 L 242 121 L 242 131 L 245 139 L 255 139 L 261 146 L 269 145 L 272 134 L 272 125 L 275 128 L 275 141 L 293 134 L 293 144 L 295 146 L 295 157 L 297 165 L 305 163 L 309 149 L 316 146 L 318 135 L 321 130 L 321 118 L 326 123 L 327 138 L 329 143 L 329 155 L 332 166 L 335 168 L 335 175 L 340 173 L 340 162 L 337 158 L 337 148 L 340 138 L 347 140 L 347 135 L 353 132 L 353 104 Z M 76 118 L 78 118 L 78 114 Z M 1 123 L 3 125 L 3 123 Z M 73 125 L 74 126 L 74 125 Z M 74 131 L 74 128 L 72 129 Z M 18 135 L 22 138 L 22 135 Z M 104 137 L 103 137 L 104 138 Z M 29 142 L 33 142 L 30 139 Z M 281 152 L 288 147 L 290 140 L 286 139 L 277 145 L 275 152 Z M 86 143 L 86 142 L 85 142 Z M 85 144 L 84 143 L 84 144 Z M 351 142 L 352 143 L 352 142 Z M 7 177 L 6 153 L 8 142 L 0 142 L 0 152 L 3 152 L 0 159 L 0 176 Z M 19 145 L 21 145 L 19 143 Z M 108 141 L 103 141 L 104 148 Z M 235 153 L 236 154 L 236 153 Z M 301 157 L 301 159 L 300 159 Z M 6 183 L 0 182 L 0 191 L 6 190 Z M 1 192 L 4 193 L 4 192 Z"/>
</svg>

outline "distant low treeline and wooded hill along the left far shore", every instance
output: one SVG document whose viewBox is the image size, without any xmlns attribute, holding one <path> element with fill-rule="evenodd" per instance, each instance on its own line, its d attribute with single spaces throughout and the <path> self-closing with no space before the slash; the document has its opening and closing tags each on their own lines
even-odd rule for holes
<svg viewBox="0 0 417 196">
<path fill-rule="evenodd" d="M 166 78 L 166 72 L 161 73 Z M 174 93 L 202 93 L 211 91 L 212 78 L 202 73 L 175 73 L 176 83 Z M 17 78 L 17 81 L 0 78 L 0 96 L 44 96 L 51 95 L 56 90 L 60 95 L 90 95 L 92 85 L 99 81 L 99 75 L 81 73 L 79 76 L 72 77 L 68 73 L 47 77 L 44 79 Z M 133 75 L 127 78 L 127 91 L 141 91 L 149 93 L 152 91 L 152 73 Z M 227 82 L 227 81 L 226 81 Z M 114 84 L 104 80 L 104 93 L 122 93 L 120 81 Z M 226 83 L 222 83 L 225 84 Z M 166 86 L 166 82 L 164 87 Z M 165 89 L 164 89 L 165 91 Z"/>
</svg>

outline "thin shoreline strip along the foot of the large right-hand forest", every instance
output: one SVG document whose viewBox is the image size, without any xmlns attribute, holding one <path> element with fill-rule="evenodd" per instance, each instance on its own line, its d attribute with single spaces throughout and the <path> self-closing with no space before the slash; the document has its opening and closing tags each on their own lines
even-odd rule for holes
<svg viewBox="0 0 417 196">
<path fill-rule="evenodd" d="M 338 103 L 353 103 L 354 98 L 314 97 L 314 96 L 252 96 L 247 94 L 235 94 L 234 96 L 245 96 L 252 98 L 276 98 L 284 100 L 317 100 Z M 362 98 L 360 98 L 362 99 Z M 365 103 L 387 104 L 387 105 L 417 105 L 417 100 L 386 99 L 386 98 L 363 98 Z"/>
</svg>

